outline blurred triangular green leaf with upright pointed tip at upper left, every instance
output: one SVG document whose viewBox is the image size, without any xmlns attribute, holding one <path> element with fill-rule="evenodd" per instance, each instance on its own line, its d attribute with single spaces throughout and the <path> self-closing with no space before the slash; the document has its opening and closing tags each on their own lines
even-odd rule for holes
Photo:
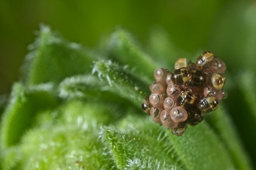
<svg viewBox="0 0 256 170">
<path fill-rule="evenodd" d="M 65 77 L 91 71 L 92 55 L 77 43 L 68 42 L 41 25 L 23 66 L 27 84 L 60 82 Z"/>
</svg>

